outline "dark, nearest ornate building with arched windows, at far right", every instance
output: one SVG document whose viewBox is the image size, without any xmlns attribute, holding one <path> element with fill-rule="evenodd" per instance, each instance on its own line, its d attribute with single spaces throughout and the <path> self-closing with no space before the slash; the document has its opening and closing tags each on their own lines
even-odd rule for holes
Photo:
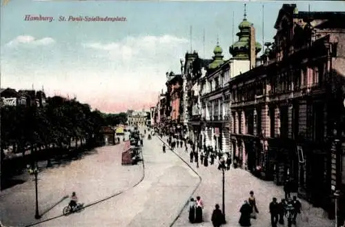
<svg viewBox="0 0 345 227">
<path fill-rule="evenodd" d="M 328 211 L 345 188 L 344 19 L 284 4 L 264 65 L 229 82 L 235 157 Z"/>
</svg>

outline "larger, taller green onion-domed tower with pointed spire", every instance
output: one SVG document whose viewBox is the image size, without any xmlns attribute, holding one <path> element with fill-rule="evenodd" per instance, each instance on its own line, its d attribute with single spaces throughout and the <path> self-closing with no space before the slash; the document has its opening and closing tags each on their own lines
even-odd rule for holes
<svg viewBox="0 0 345 227">
<path fill-rule="evenodd" d="M 234 59 L 250 58 L 250 46 L 252 46 L 250 45 L 250 41 L 254 41 L 253 46 L 255 46 L 255 55 L 262 50 L 261 44 L 255 42 L 255 30 L 253 28 L 253 24 L 247 21 L 246 16 L 246 4 L 244 4 L 244 19 L 239 23 L 239 32 L 236 34 L 239 37 L 239 40 L 229 48 L 230 54 L 233 55 Z"/>
</svg>

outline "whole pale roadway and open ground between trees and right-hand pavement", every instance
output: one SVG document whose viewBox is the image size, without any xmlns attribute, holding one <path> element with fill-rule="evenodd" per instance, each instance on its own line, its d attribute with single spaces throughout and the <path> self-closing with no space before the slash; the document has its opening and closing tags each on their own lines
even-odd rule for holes
<svg viewBox="0 0 345 227">
<path fill-rule="evenodd" d="M 131 188 L 141 178 L 141 163 L 137 166 L 121 166 L 120 149 L 121 144 L 97 148 L 95 155 L 72 162 L 69 166 L 41 172 L 40 210 L 47 209 L 48 205 L 43 204 L 54 204 L 72 191 L 87 206 Z M 152 137 L 150 141 L 144 139 L 143 157 L 144 180 L 134 188 L 88 206 L 79 213 L 34 226 L 170 226 L 199 184 L 199 177 L 172 152 L 163 154 L 157 137 Z M 3 224 L 28 226 L 35 221 L 33 183 L 30 181 L 1 192 L 0 202 L 6 204 L 1 206 Z M 26 206 L 17 201 L 23 201 Z M 41 220 L 61 215 L 68 201 L 65 199 L 52 208 Z M 23 210 L 22 217 L 18 218 L 18 210 Z"/>
</svg>

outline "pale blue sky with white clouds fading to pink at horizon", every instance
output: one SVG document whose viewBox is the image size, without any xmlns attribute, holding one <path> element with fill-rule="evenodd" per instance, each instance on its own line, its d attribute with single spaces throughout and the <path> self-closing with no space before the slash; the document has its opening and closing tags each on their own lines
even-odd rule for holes
<svg viewBox="0 0 345 227">
<path fill-rule="evenodd" d="M 244 3 L 262 43 L 273 40 L 282 4 L 295 2 L 10 0 L 1 6 L 0 86 L 43 88 L 48 96 L 77 97 L 103 112 L 148 109 L 166 89 L 166 72 L 180 73 L 190 48 L 210 59 L 219 37 L 224 59 L 230 58 Z M 299 11 L 308 6 L 345 11 L 342 1 L 297 1 Z M 26 15 L 53 20 L 26 21 Z M 68 21 L 79 16 L 126 21 Z"/>
</svg>

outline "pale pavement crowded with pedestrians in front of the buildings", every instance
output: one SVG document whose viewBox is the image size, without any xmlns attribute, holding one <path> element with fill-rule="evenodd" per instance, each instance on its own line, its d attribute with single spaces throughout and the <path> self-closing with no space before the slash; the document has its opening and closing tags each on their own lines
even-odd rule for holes
<svg viewBox="0 0 345 227">
<path fill-rule="evenodd" d="M 163 138 L 166 141 L 166 137 Z M 184 148 L 175 148 L 177 154 L 190 161 L 189 152 L 190 146 L 188 146 L 188 152 L 185 152 Z M 210 215 L 214 209 L 215 204 L 219 204 L 221 207 L 221 194 L 222 194 L 222 174 L 217 169 L 217 159 L 214 165 L 205 167 L 199 163 L 199 168 L 196 164 L 191 164 L 196 172 L 201 176 L 201 185 L 195 192 L 194 197 L 199 195 L 201 199 L 204 199 L 204 223 L 202 224 L 190 224 L 188 222 L 188 208 L 184 210 L 174 226 L 212 226 L 210 223 Z M 270 214 L 268 212 L 268 204 L 272 200 L 272 197 L 280 199 L 284 198 L 284 190 L 281 186 L 276 186 L 272 181 L 262 181 L 257 177 L 254 177 L 250 172 L 242 170 L 240 168 L 231 168 L 225 172 L 225 210 L 227 224 L 224 227 L 239 226 L 239 208 L 242 206 L 244 200 L 248 199 L 250 190 L 253 190 L 257 199 L 257 207 L 259 214 L 257 219 L 252 219 L 252 226 L 257 227 L 269 227 L 270 226 Z M 322 208 L 314 208 L 311 204 L 303 199 L 299 199 L 302 203 L 302 215 L 305 217 L 297 217 L 298 227 L 332 227 L 334 222 L 325 217 L 324 210 Z M 308 217 L 308 221 L 306 221 Z"/>
</svg>

